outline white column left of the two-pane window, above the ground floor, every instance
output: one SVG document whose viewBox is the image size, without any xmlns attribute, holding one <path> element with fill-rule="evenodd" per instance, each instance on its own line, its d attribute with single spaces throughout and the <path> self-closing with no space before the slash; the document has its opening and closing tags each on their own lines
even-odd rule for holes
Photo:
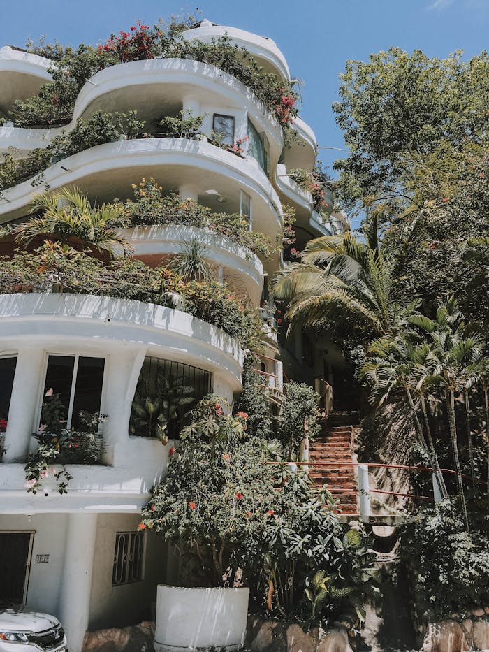
<svg viewBox="0 0 489 652">
<path fill-rule="evenodd" d="M 4 462 L 23 461 L 29 453 L 34 418 L 39 407 L 39 384 L 43 382 L 43 363 L 42 349 L 19 349 L 5 433 Z"/>
</svg>

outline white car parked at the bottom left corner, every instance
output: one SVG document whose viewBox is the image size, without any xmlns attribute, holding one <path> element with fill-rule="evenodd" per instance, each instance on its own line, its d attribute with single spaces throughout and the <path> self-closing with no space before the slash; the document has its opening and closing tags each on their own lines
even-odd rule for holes
<svg viewBox="0 0 489 652">
<path fill-rule="evenodd" d="M 65 652 L 66 636 L 54 616 L 0 602 L 0 652 Z"/>
</svg>

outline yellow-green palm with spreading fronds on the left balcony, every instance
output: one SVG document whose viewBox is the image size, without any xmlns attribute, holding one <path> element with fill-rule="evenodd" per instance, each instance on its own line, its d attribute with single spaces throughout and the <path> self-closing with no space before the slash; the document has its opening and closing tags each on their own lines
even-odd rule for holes
<svg viewBox="0 0 489 652">
<path fill-rule="evenodd" d="M 132 252 L 131 245 L 119 233 L 126 224 L 114 203 L 92 208 L 87 194 L 76 188 L 62 188 L 38 195 L 31 211 L 41 215 L 15 229 L 22 245 L 28 245 L 36 236 L 50 234 L 60 240 L 75 236 L 87 247 L 105 250 L 110 256 L 127 256 Z"/>
</svg>

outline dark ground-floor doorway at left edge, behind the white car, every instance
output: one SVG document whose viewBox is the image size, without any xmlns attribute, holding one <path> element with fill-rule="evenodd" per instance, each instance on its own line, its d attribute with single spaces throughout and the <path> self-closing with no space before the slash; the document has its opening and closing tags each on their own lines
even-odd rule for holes
<svg viewBox="0 0 489 652">
<path fill-rule="evenodd" d="M 32 532 L 0 532 L 0 600 L 24 604 L 32 539 Z"/>
</svg>

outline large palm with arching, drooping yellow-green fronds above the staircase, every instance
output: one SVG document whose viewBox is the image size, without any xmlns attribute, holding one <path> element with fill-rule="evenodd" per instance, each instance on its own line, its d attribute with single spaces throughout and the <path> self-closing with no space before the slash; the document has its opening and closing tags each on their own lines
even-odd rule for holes
<svg viewBox="0 0 489 652">
<path fill-rule="evenodd" d="M 361 326 L 371 339 L 397 322 L 400 307 L 391 299 L 391 265 L 379 249 L 377 224 L 364 231 L 365 242 L 351 232 L 311 240 L 301 262 L 275 276 L 272 291 L 290 302 L 291 328 Z"/>
</svg>

